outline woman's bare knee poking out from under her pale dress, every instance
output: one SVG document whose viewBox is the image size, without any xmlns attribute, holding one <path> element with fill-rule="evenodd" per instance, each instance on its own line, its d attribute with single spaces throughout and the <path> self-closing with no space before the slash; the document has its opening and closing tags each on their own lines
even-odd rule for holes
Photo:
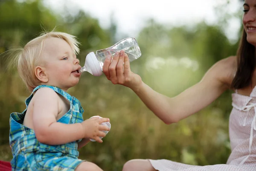
<svg viewBox="0 0 256 171">
<path fill-rule="evenodd" d="M 123 166 L 122 171 L 156 171 L 147 159 L 129 160 Z"/>
</svg>

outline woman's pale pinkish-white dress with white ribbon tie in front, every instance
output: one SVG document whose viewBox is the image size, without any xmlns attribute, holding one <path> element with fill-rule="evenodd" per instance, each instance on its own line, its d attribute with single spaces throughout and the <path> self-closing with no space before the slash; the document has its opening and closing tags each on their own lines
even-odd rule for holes
<svg viewBox="0 0 256 171">
<path fill-rule="evenodd" d="M 250 96 L 232 94 L 229 136 L 231 154 L 227 164 L 186 165 L 167 159 L 152 160 L 158 171 L 256 171 L 256 87 Z"/>
</svg>

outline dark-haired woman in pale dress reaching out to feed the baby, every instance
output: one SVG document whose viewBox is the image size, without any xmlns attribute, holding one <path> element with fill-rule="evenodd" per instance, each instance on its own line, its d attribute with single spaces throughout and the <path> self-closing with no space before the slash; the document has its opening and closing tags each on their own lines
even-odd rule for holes
<svg viewBox="0 0 256 171">
<path fill-rule="evenodd" d="M 256 0 L 244 1 L 243 26 L 237 56 L 218 61 L 200 82 L 173 98 L 155 92 L 131 72 L 128 56 L 123 51 L 112 62 L 105 61 L 103 72 L 108 80 L 131 88 L 166 124 L 198 112 L 225 90 L 236 92 L 232 94 L 229 125 L 232 152 L 226 165 L 194 166 L 165 159 L 134 159 L 125 163 L 123 171 L 256 171 Z"/>
</svg>

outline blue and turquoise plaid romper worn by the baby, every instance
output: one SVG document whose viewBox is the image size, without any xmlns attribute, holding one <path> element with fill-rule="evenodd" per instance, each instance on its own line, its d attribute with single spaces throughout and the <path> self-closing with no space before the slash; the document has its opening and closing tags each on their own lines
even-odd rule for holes
<svg viewBox="0 0 256 171">
<path fill-rule="evenodd" d="M 70 110 L 57 122 L 74 124 L 83 122 L 83 108 L 78 99 L 64 92 L 58 87 L 40 85 L 26 99 L 26 109 L 22 113 L 12 113 L 10 116 L 9 142 L 12 149 L 11 161 L 14 171 L 74 171 L 82 162 L 78 159 L 77 142 L 69 142 L 63 145 L 47 145 L 39 142 L 34 130 L 23 125 L 26 110 L 33 93 L 42 87 L 48 87 L 70 101 Z"/>
</svg>

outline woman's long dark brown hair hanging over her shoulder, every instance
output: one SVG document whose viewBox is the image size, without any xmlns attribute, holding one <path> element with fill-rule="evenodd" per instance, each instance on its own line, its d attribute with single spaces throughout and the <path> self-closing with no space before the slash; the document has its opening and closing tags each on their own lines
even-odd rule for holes
<svg viewBox="0 0 256 171">
<path fill-rule="evenodd" d="M 255 69 L 255 47 L 247 41 L 247 34 L 243 29 L 239 48 L 236 52 L 237 71 L 232 81 L 231 88 L 241 89 L 251 84 Z"/>
</svg>

